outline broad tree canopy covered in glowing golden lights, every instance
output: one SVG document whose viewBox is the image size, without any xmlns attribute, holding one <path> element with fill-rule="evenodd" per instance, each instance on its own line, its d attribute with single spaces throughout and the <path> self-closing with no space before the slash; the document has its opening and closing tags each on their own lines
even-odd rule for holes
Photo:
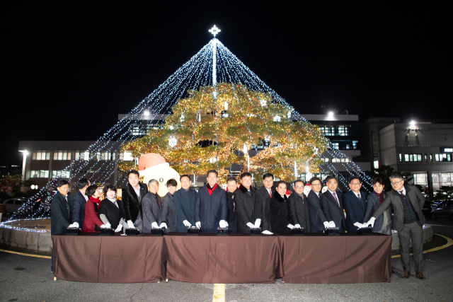
<svg viewBox="0 0 453 302">
<path fill-rule="evenodd" d="M 328 140 L 318 128 L 291 119 L 293 108 L 273 101 L 270 93 L 248 90 L 241 83 L 217 83 L 188 91 L 179 99 L 160 129 L 128 141 L 122 151 L 134 158 L 159 153 L 180 174 L 205 175 L 219 171 L 224 183 L 233 163 L 242 172 L 270 172 L 282 180 L 294 180 L 294 169 L 319 173 L 319 154 Z M 248 150 L 268 146 L 256 156 Z M 122 170 L 136 168 L 122 161 Z"/>
</svg>

